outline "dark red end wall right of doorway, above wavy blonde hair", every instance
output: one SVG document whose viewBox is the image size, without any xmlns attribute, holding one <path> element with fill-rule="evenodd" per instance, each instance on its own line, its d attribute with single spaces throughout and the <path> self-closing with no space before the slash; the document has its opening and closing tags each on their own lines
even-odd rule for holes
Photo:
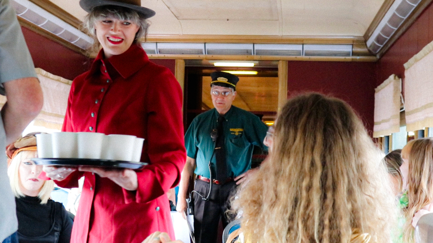
<svg viewBox="0 0 433 243">
<path fill-rule="evenodd" d="M 374 117 L 374 62 L 289 61 L 287 96 L 320 92 L 346 101 L 372 135 Z"/>
</svg>

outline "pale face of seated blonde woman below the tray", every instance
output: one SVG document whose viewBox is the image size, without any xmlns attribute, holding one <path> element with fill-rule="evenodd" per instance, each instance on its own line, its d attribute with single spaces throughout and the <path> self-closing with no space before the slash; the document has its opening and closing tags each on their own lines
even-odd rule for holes
<svg viewBox="0 0 433 243">
<path fill-rule="evenodd" d="M 42 171 L 43 165 L 36 165 L 31 158 L 37 158 L 37 152 L 31 151 L 23 156 L 18 168 L 20 177 L 20 189 L 26 196 L 37 196 L 40 189 L 44 185 L 44 180 L 37 178 Z"/>
</svg>

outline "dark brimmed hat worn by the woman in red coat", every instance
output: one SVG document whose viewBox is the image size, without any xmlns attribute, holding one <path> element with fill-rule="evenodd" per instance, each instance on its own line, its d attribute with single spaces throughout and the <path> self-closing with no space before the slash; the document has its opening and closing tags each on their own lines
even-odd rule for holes
<svg viewBox="0 0 433 243">
<path fill-rule="evenodd" d="M 141 0 L 80 0 L 80 6 L 88 13 L 90 13 L 94 7 L 105 5 L 114 5 L 133 9 L 142 14 L 145 19 L 155 15 L 154 10 L 141 6 Z"/>
</svg>

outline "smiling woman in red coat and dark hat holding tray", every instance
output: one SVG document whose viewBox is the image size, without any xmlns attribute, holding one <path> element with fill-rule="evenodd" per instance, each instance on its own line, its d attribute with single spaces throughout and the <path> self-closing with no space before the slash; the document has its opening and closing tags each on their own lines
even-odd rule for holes
<svg viewBox="0 0 433 243">
<path fill-rule="evenodd" d="M 125 3 L 127 2 L 127 3 Z M 71 243 L 141 243 L 154 231 L 174 236 L 166 192 L 185 164 L 182 90 L 140 47 L 155 12 L 140 0 L 80 0 L 85 24 L 102 46 L 72 83 L 62 131 L 145 138 L 141 171 L 45 167 L 61 187 L 85 177 Z"/>
</svg>

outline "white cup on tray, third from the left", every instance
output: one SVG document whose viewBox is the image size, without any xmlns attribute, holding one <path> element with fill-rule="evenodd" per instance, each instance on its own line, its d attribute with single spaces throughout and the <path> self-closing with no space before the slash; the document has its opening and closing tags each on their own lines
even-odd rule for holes
<svg viewBox="0 0 433 243">
<path fill-rule="evenodd" d="M 105 134 L 82 132 L 77 134 L 78 158 L 100 159 Z"/>
</svg>

